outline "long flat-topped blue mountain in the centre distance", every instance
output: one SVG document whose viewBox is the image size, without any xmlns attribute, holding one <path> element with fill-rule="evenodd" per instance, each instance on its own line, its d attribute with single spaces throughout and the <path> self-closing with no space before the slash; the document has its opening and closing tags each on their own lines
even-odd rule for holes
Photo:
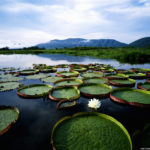
<svg viewBox="0 0 150 150">
<path fill-rule="evenodd" d="M 65 40 L 51 40 L 48 43 L 37 45 L 39 48 L 56 49 L 56 48 L 72 48 L 72 47 L 125 47 L 127 44 L 121 43 L 113 39 L 82 39 L 69 38 Z"/>
</svg>

